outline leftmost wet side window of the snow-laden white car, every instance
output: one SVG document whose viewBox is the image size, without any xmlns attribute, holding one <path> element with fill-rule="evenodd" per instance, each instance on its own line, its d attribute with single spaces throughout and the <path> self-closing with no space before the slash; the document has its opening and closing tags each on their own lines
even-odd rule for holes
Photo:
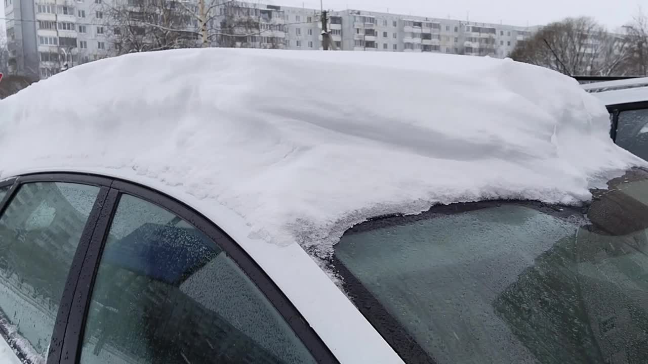
<svg viewBox="0 0 648 364">
<path fill-rule="evenodd" d="M 34 362 L 47 355 L 67 274 L 98 192 L 74 183 L 29 183 L 0 218 L 0 324 Z"/>
</svg>

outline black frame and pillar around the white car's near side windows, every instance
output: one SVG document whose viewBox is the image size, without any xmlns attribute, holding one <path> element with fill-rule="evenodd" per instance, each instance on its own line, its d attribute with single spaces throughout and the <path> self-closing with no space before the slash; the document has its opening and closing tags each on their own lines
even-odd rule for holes
<svg viewBox="0 0 648 364">
<path fill-rule="evenodd" d="M 168 210 L 208 236 L 259 288 L 317 363 L 340 363 L 330 348 L 259 264 L 231 236 L 195 209 L 163 192 L 124 179 L 97 174 L 47 172 L 25 174 L 0 181 L 0 188 L 10 186 L 5 197 L 0 201 L 0 216 L 21 185 L 35 182 L 80 183 L 99 187 L 97 198 L 87 219 L 65 282 L 63 296 L 54 321 L 52 339 L 46 359 L 47 364 L 73 364 L 80 360 L 84 328 L 100 256 L 106 244 L 119 199 L 123 194 L 143 199 Z M 14 354 L 23 363 L 30 363 L 27 353 L 21 352 L 13 344 L 8 333 L 1 328 L 0 335 L 10 344 L 14 349 Z"/>
</svg>

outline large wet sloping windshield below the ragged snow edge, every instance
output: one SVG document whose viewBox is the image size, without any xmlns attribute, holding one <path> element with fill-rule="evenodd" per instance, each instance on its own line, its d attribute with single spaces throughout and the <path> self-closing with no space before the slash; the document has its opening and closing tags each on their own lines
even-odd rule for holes
<svg viewBox="0 0 648 364">
<path fill-rule="evenodd" d="M 406 363 L 643 363 L 648 174 L 588 207 L 463 203 L 360 224 L 345 290 Z"/>
</svg>

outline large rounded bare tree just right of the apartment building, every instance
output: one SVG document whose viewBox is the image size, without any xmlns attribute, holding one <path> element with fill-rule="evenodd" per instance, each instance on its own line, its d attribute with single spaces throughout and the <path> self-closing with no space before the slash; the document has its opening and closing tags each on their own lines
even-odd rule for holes
<svg viewBox="0 0 648 364">
<path fill-rule="evenodd" d="M 629 40 L 607 32 L 589 17 L 567 18 L 519 41 L 511 58 L 569 75 L 627 73 Z"/>
</svg>

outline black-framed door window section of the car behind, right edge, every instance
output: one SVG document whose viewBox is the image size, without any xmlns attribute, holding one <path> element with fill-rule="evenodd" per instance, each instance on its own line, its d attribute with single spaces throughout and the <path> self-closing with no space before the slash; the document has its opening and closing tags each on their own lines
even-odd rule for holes
<svg viewBox="0 0 648 364">
<path fill-rule="evenodd" d="M 610 135 L 621 148 L 648 160 L 648 101 L 608 106 Z"/>
</svg>

